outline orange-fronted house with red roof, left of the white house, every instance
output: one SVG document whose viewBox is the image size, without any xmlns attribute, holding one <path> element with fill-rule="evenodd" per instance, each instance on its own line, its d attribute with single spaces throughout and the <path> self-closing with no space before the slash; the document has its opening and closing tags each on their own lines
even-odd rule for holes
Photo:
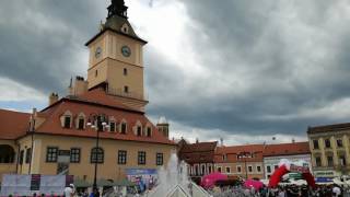
<svg viewBox="0 0 350 197">
<path fill-rule="evenodd" d="M 262 178 L 264 144 L 218 147 L 215 170 L 229 177 Z"/>
</svg>

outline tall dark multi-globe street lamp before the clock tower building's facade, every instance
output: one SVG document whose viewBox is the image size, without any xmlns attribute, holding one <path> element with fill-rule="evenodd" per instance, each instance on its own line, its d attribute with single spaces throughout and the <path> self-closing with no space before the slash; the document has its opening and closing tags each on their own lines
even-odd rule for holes
<svg viewBox="0 0 350 197">
<path fill-rule="evenodd" d="M 100 131 L 103 131 L 105 128 L 108 128 L 107 125 L 108 118 L 105 114 L 91 114 L 89 116 L 89 120 L 86 126 L 91 127 L 96 130 L 96 147 L 95 147 L 95 155 L 92 155 L 92 158 L 95 158 L 95 174 L 94 174 L 94 184 L 93 189 L 97 189 L 97 159 L 98 159 L 98 148 L 100 148 Z"/>
</svg>

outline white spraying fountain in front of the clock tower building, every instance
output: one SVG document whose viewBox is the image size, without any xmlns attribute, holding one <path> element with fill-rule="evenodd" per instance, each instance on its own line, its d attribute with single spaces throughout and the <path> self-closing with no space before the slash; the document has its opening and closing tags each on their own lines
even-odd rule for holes
<svg viewBox="0 0 350 197">
<path fill-rule="evenodd" d="M 147 194 L 148 197 L 210 197 L 188 177 L 187 164 L 178 163 L 176 153 L 171 155 L 166 169 L 159 171 L 159 185 Z"/>
</svg>

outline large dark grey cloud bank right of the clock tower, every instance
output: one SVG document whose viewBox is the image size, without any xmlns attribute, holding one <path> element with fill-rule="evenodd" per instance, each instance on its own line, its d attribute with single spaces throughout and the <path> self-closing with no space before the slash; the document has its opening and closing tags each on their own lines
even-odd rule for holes
<svg viewBox="0 0 350 197">
<path fill-rule="evenodd" d="M 183 3 L 195 23 L 187 24 L 191 45 L 212 76 L 194 78 L 190 88 L 171 83 L 158 90 L 156 95 L 177 96 L 173 105 L 166 102 L 151 113 L 165 112 L 192 127 L 252 135 L 305 135 L 310 125 L 347 121 L 347 116 L 304 115 L 350 96 L 350 28 L 341 11 L 347 1 Z M 223 83 L 232 85 L 221 91 Z M 208 89 L 212 96 L 200 93 Z"/>
</svg>

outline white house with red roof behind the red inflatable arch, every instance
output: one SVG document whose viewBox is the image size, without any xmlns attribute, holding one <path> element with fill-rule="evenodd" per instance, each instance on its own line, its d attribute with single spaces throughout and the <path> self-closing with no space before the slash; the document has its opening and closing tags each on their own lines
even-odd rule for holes
<svg viewBox="0 0 350 197">
<path fill-rule="evenodd" d="M 304 161 L 308 163 L 310 170 L 312 171 L 308 142 L 267 144 L 264 150 L 266 179 L 270 178 L 275 170 L 279 167 L 279 163 L 282 159 L 287 159 L 291 162 Z M 290 175 L 292 176 L 293 174 Z"/>
</svg>

